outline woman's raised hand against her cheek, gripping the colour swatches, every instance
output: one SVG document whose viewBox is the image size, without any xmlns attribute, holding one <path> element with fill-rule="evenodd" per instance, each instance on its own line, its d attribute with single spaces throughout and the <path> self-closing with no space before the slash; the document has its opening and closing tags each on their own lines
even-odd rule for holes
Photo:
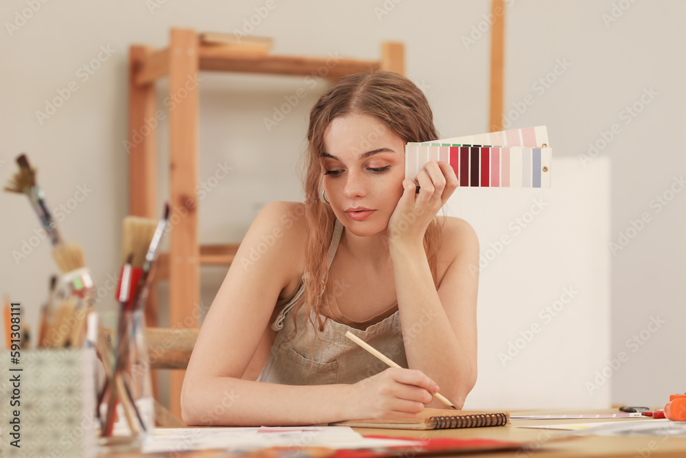
<svg viewBox="0 0 686 458">
<path fill-rule="evenodd" d="M 416 176 L 416 185 L 403 180 L 403 195 L 388 221 L 386 235 L 391 244 L 418 244 L 423 247 L 424 233 L 438 210 L 458 187 L 458 177 L 449 163 L 429 161 Z"/>
</svg>

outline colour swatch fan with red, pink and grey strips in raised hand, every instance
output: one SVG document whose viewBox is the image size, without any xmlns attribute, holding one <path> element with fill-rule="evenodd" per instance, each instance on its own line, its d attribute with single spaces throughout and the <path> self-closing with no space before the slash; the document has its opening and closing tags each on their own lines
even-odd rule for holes
<svg viewBox="0 0 686 458">
<path fill-rule="evenodd" d="M 552 148 L 545 126 L 405 145 L 405 178 L 429 161 L 449 163 L 459 186 L 550 187 Z"/>
</svg>

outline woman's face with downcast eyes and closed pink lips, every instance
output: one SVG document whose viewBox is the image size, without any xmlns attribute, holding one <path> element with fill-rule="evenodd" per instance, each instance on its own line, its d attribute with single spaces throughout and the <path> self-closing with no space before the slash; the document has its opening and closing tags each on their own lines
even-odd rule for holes
<svg viewBox="0 0 686 458">
<path fill-rule="evenodd" d="M 386 230 L 403 194 L 405 141 L 370 115 L 336 117 L 320 161 L 324 191 L 346 229 L 356 236 Z"/>
</svg>

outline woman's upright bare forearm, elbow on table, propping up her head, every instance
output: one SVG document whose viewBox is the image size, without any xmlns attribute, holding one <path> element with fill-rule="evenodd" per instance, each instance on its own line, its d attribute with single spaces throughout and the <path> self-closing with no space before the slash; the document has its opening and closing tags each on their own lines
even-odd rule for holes
<svg viewBox="0 0 686 458">
<path fill-rule="evenodd" d="M 461 409 L 476 380 L 476 362 L 451 328 L 423 247 L 391 247 L 391 256 L 407 364 Z M 430 407 L 443 405 L 434 400 Z"/>
</svg>

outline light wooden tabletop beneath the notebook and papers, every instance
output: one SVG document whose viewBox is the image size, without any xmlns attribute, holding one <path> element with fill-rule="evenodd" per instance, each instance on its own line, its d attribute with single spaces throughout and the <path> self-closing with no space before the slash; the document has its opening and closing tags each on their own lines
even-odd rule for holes
<svg viewBox="0 0 686 458">
<path fill-rule="evenodd" d="M 593 411 L 521 411 L 511 412 L 511 415 L 554 415 L 581 413 L 618 413 L 617 409 Z M 647 419 L 648 417 L 646 417 Z M 460 439 L 499 439 L 513 442 L 528 442 L 528 446 L 520 450 L 509 450 L 499 453 L 479 453 L 480 458 L 685 458 L 686 437 L 634 437 L 634 436 L 581 436 L 569 440 L 554 440 L 554 436 L 565 431 L 552 429 L 518 428 L 523 425 L 563 424 L 563 423 L 597 423 L 597 422 L 631 422 L 630 418 L 608 420 L 512 420 L 508 426 L 492 428 L 447 429 L 440 431 L 407 431 L 380 428 L 353 428 L 362 435 L 388 435 L 397 437 L 457 437 Z M 109 453 L 99 457 L 157 457 L 167 455 L 143 455 L 140 453 Z M 193 453 L 175 455 L 178 457 L 214 458 L 222 457 L 220 451 L 206 450 Z M 442 455 L 449 456 L 449 455 Z M 457 456 L 457 455 L 456 455 Z M 466 455 L 459 455 L 464 457 Z"/>
</svg>

